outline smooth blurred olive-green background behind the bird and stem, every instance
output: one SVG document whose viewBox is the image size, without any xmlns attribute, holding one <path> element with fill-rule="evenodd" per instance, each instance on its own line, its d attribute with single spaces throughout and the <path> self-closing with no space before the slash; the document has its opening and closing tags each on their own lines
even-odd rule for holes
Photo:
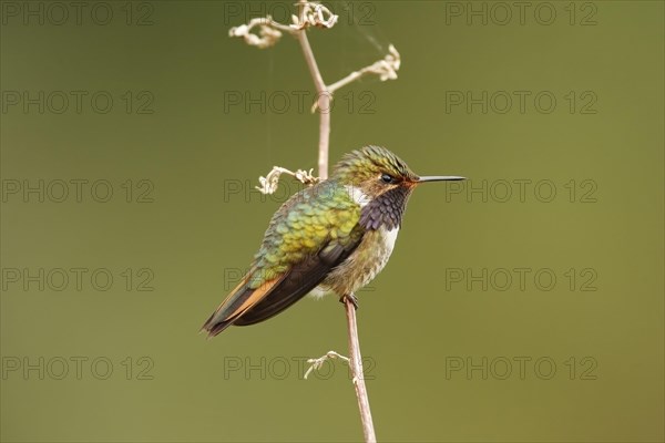
<svg viewBox="0 0 665 443">
<path fill-rule="evenodd" d="M 361 439 L 346 365 L 303 380 L 337 300 L 197 334 L 297 188 L 258 176 L 316 166 L 297 42 L 228 38 L 289 3 L 2 2 L 2 441 Z M 329 4 L 328 83 L 402 58 L 337 93 L 330 161 L 472 178 L 359 293 L 379 440 L 663 441 L 663 2 Z"/>
</svg>

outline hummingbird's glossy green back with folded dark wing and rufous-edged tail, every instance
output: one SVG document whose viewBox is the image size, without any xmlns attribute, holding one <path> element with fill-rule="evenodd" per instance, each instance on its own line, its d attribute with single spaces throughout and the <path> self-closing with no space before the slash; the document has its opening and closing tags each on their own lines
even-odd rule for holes
<svg viewBox="0 0 665 443">
<path fill-rule="evenodd" d="M 301 299 L 358 247 L 359 218 L 360 207 L 335 181 L 294 195 L 273 216 L 249 272 L 202 329 L 212 337 L 254 324 Z"/>
</svg>

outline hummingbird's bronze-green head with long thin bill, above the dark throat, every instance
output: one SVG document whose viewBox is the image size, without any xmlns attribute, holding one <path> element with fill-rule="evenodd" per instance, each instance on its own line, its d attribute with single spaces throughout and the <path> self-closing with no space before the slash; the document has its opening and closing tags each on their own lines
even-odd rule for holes
<svg viewBox="0 0 665 443">
<path fill-rule="evenodd" d="M 346 154 L 332 172 L 332 178 L 358 188 L 370 199 L 393 190 L 409 195 L 419 184 L 459 181 L 458 176 L 420 177 L 397 155 L 381 146 L 365 146 Z"/>
</svg>

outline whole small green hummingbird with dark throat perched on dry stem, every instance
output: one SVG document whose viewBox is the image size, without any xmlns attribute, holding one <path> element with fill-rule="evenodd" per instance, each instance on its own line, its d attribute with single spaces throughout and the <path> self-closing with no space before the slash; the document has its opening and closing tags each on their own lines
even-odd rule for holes
<svg viewBox="0 0 665 443">
<path fill-rule="evenodd" d="M 275 213 L 247 274 L 203 324 L 208 337 L 255 324 L 307 293 L 335 293 L 358 308 L 355 292 L 383 269 L 409 196 L 422 183 L 458 176 L 415 174 L 380 146 L 346 154 L 330 178 L 293 195 Z"/>
</svg>

